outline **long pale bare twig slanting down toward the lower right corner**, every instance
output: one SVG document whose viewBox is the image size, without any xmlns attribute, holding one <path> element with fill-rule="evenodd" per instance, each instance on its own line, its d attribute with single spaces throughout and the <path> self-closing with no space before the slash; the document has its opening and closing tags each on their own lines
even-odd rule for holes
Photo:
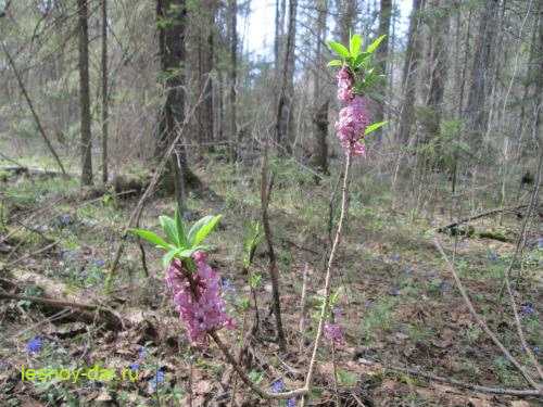
<svg viewBox="0 0 543 407">
<path fill-rule="evenodd" d="M 489 338 L 494 342 L 494 344 L 502 351 L 504 356 L 515 366 L 515 368 L 522 374 L 522 377 L 526 379 L 526 381 L 533 387 L 540 394 L 543 395 L 543 387 L 541 387 L 540 384 L 538 384 L 532 377 L 526 371 L 526 369 L 518 363 L 518 360 L 505 348 L 505 346 L 502 344 L 502 342 L 497 339 L 497 336 L 494 334 L 494 332 L 491 331 L 487 322 L 479 316 L 477 310 L 473 307 L 473 304 L 471 303 L 471 300 L 469 300 L 469 296 L 466 292 L 466 289 L 464 288 L 464 284 L 462 283 L 460 279 L 458 278 L 458 275 L 456 274 L 456 270 L 454 266 L 452 265 L 451 260 L 449 259 L 447 255 L 443 251 L 443 247 L 439 241 L 439 239 L 435 237 L 433 240 L 435 247 L 438 251 L 441 253 L 441 256 L 446 263 L 446 266 L 451 274 L 453 275 L 454 281 L 456 283 L 456 287 L 458 288 L 458 291 L 460 292 L 462 297 L 464 298 L 464 302 L 468 306 L 469 313 L 473 317 L 473 319 L 477 321 L 479 327 L 489 335 Z"/>
</svg>

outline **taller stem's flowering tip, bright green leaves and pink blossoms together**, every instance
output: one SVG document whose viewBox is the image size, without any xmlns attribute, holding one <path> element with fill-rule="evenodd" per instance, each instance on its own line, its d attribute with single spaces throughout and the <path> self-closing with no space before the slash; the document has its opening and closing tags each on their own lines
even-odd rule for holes
<svg viewBox="0 0 543 407">
<path fill-rule="evenodd" d="M 341 60 L 333 60 L 329 66 L 341 66 L 338 72 L 338 100 L 344 104 L 340 110 L 336 130 L 341 145 L 350 155 L 365 155 L 364 137 L 382 127 L 387 122 L 370 125 L 366 91 L 382 75 L 371 67 L 371 56 L 384 36 L 376 39 L 362 52 L 362 37 L 351 37 L 349 49 L 345 46 L 329 41 L 328 44 Z"/>
</svg>

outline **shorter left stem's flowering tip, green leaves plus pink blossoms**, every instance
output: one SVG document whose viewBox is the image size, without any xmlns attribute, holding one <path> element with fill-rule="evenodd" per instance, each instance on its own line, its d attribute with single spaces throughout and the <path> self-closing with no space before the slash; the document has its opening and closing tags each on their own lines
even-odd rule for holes
<svg viewBox="0 0 543 407">
<path fill-rule="evenodd" d="M 166 239 L 146 229 L 132 229 L 140 238 L 166 251 L 166 284 L 172 293 L 179 318 L 185 323 L 191 342 L 207 343 L 207 333 L 223 327 L 232 328 L 233 320 L 226 314 L 220 293 L 220 278 L 206 262 L 207 246 L 201 245 L 218 224 L 220 216 L 206 216 L 185 232 L 185 225 L 176 212 L 175 219 L 161 216 Z"/>
</svg>

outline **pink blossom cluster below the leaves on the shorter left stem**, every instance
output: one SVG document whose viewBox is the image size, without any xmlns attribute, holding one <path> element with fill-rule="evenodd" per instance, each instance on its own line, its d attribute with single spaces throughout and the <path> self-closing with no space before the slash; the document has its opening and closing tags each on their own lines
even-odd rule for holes
<svg viewBox="0 0 543 407">
<path fill-rule="evenodd" d="M 166 271 L 166 283 L 172 291 L 179 318 L 185 322 L 189 339 L 205 345 L 207 332 L 223 327 L 233 328 L 233 320 L 226 314 L 225 301 L 220 296 L 219 277 L 206 263 L 203 252 L 193 254 L 197 271 L 189 274 L 179 259 L 174 259 Z"/>
</svg>

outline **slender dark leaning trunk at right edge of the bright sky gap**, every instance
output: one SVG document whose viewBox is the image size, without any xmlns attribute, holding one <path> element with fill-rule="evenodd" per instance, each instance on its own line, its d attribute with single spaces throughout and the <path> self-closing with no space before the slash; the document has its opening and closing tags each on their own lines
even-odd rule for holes
<svg viewBox="0 0 543 407">
<path fill-rule="evenodd" d="M 291 140 L 293 139 L 293 96 L 294 96 L 294 49 L 296 35 L 296 8 L 298 0 L 289 0 L 289 27 L 287 31 L 287 44 L 285 47 L 285 60 L 282 67 L 281 90 L 277 104 L 276 117 L 276 142 L 287 153 L 291 152 Z"/>
</svg>

